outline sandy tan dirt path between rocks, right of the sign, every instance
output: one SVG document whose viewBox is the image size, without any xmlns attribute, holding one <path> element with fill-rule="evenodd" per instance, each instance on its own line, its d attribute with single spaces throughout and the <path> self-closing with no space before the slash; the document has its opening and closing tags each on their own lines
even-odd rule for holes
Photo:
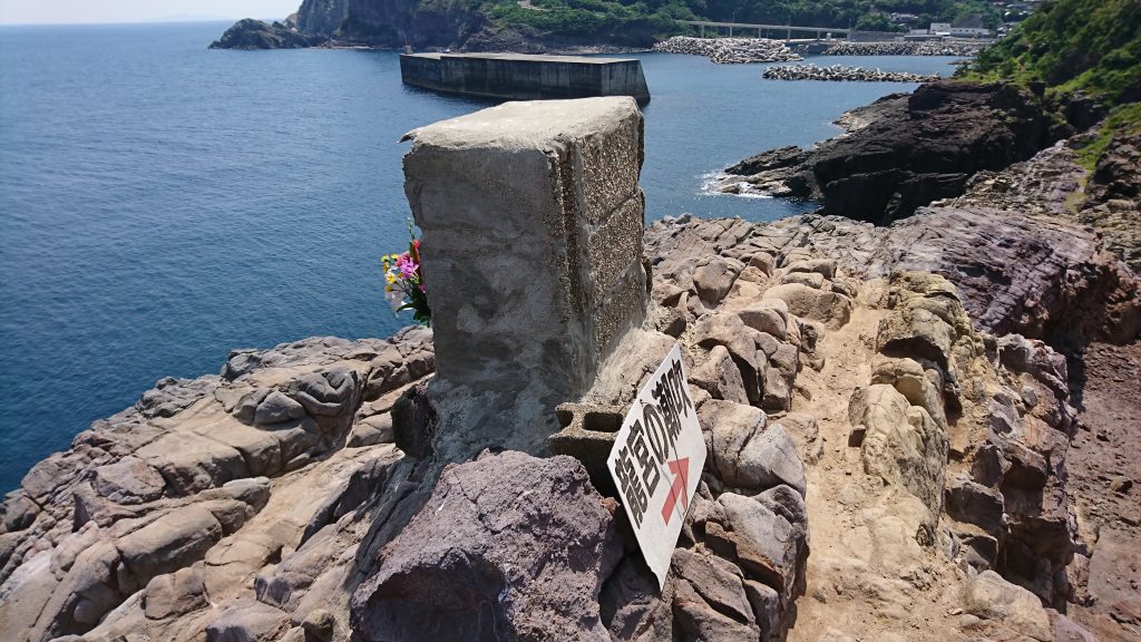
<svg viewBox="0 0 1141 642">
<path fill-rule="evenodd" d="M 796 379 L 793 408 L 816 417 L 824 451 L 807 468 L 811 554 L 807 593 L 798 601 L 790 642 L 956 637 L 948 632 L 957 631 L 958 623 L 947 621 L 957 586 L 950 562 L 913 546 L 914 540 L 912 546 L 905 539 L 885 541 L 875 527 L 871 538 L 860 536 L 867 512 L 876 509 L 873 495 L 880 482 L 864 475 L 860 449 L 848 446 L 848 404 L 871 380 L 876 329 L 885 315 L 858 305 L 848 324 L 828 331 L 818 344 L 824 368 L 806 368 Z M 845 578 L 849 573 L 867 577 Z"/>
</svg>

